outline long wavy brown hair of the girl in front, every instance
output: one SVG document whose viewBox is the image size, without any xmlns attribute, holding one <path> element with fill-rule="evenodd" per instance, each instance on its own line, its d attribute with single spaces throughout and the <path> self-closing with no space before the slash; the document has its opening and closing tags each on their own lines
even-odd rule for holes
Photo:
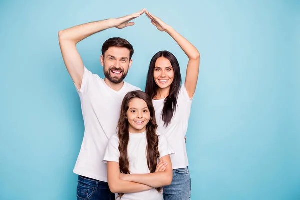
<svg viewBox="0 0 300 200">
<path fill-rule="evenodd" d="M 143 91 L 130 91 L 128 92 L 121 105 L 121 113 L 118 121 L 118 137 L 119 137 L 119 165 L 120 172 L 125 174 L 130 174 L 129 171 L 129 158 L 128 158 L 128 142 L 129 142 L 129 122 L 126 117 L 126 113 L 129 108 L 129 102 L 133 98 L 139 98 L 146 102 L 149 112 L 150 120 L 146 125 L 146 137 L 147 137 L 147 164 L 151 173 L 155 172 L 157 165 L 157 158 L 160 154 L 158 151 L 158 135 L 156 134 L 157 124 L 155 118 L 155 110 L 152 103 L 152 99 Z M 161 188 L 156 188 L 158 191 L 161 191 Z M 119 193 L 119 196 L 123 196 L 123 193 Z"/>
</svg>

